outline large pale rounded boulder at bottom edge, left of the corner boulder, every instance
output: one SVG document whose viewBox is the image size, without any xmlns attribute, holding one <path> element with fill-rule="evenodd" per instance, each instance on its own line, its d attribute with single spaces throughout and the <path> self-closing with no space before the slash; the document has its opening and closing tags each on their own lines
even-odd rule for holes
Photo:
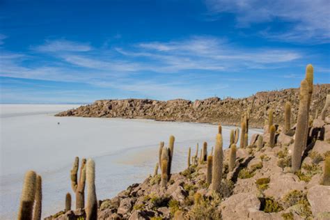
<svg viewBox="0 0 330 220">
<path fill-rule="evenodd" d="M 248 219 L 250 212 L 260 209 L 260 200 L 254 194 L 235 194 L 220 205 L 222 219 Z"/>
</svg>

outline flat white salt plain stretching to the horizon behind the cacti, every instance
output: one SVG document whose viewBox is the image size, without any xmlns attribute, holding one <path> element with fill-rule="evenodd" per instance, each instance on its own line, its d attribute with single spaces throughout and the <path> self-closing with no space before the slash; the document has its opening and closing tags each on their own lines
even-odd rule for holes
<svg viewBox="0 0 330 220">
<path fill-rule="evenodd" d="M 93 157 L 97 199 L 110 198 L 142 182 L 157 162 L 159 141 L 175 136 L 173 172 L 187 166 L 189 146 L 214 145 L 217 125 L 119 118 L 54 117 L 74 105 L 0 104 L 0 219 L 15 219 L 24 173 L 42 175 L 42 216 L 62 210 L 70 192 L 74 157 Z M 58 124 L 59 123 L 59 124 Z M 230 129 L 223 127 L 229 143 Z M 249 129 L 249 136 L 260 132 Z M 73 194 L 72 194 L 73 196 Z M 74 196 L 73 196 L 74 198 Z M 74 201 L 72 201 L 74 204 Z"/>
</svg>

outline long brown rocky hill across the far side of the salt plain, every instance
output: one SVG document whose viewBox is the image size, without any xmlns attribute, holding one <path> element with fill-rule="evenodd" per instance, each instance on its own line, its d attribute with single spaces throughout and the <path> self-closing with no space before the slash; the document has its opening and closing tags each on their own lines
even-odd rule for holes
<svg viewBox="0 0 330 220">
<path fill-rule="evenodd" d="M 311 102 L 311 115 L 321 111 L 330 84 L 315 85 Z M 299 89 L 288 88 L 281 91 L 256 93 L 246 98 L 211 97 L 205 100 L 97 100 L 93 104 L 81 106 L 56 114 L 56 116 L 105 117 L 105 118 L 146 118 L 154 120 L 185 121 L 198 123 L 221 123 L 238 125 L 242 113 L 251 111 L 249 125 L 263 127 L 268 109 L 274 110 L 274 123 L 283 124 L 285 102 L 292 104 L 292 118 L 297 118 Z"/>
</svg>

